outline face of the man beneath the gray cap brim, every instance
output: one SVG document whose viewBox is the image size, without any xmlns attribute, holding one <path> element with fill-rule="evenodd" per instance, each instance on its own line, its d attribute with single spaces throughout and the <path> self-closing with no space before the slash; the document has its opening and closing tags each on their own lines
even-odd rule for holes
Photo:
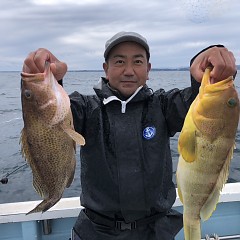
<svg viewBox="0 0 240 240">
<path fill-rule="evenodd" d="M 123 42 L 111 50 L 103 68 L 110 86 L 129 97 L 148 80 L 151 64 L 140 44 Z"/>
</svg>

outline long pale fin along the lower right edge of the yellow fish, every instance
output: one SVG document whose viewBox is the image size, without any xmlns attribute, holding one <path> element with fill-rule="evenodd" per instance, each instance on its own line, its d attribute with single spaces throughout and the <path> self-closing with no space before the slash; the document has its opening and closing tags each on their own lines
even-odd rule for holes
<svg viewBox="0 0 240 240">
<path fill-rule="evenodd" d="M 234 146 L 229 150 L 226 161 L 218 176 L 215 187 L 213 188 L 211 194 L 209 195 L 208 199 L 206 200 L 206 202 L 201 208 L 200 216 L 203 221 L 206 221 L 207 219 L 209 219 L 212 213 L 214 212 L 214 210 L 216 209 L 217 203 L 219 201 L 220 191 L 222 191 L 222 188 L 228 178 L 229 165 L 233 157 L 233 149 L 234 149 Z"/>
</svg>

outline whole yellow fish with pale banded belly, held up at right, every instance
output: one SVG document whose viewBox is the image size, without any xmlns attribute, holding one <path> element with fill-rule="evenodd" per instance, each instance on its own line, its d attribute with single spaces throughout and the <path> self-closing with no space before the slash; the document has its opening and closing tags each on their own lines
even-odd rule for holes
<svg viewBox="0 0 240 240">
<path fill-rule="evenodd" d="M 226 183 L 239 121 L 233 77 L 210 84 L 205 70 L 178 140 L 177 186 L 183 203 L 185 240 L 200 240 L 200 220 L 216 208 Z"/>
</svg>

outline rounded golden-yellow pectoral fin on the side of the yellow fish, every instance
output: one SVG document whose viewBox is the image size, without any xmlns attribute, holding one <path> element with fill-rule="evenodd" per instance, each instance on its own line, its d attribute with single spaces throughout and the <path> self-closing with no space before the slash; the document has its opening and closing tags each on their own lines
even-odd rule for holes
<svg viewBox="0 0 240 240">
<path fill-rule="evenodd" d="M 178 141 L 178 152 L 186 162 L 195 160 L 196 131 L 185 129 L 181 132 Z"/>
</svg>

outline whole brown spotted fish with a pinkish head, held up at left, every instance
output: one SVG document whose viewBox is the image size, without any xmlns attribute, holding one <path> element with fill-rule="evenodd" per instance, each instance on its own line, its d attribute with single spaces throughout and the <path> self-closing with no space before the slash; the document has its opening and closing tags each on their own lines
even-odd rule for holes
<svg viewBox="0 0 240 240">
<path fill-rule="evenodd" d="M 44 73 L 22 73 L 21 99 L 24 128 L 22 154 L 33 174 L 33 186 L 43 201 L 29 213 L 55 205 L 75 172 L 76 143 L 84 138 L 74 131 L 70 99 L 46 63 Z"/>
</svg>

